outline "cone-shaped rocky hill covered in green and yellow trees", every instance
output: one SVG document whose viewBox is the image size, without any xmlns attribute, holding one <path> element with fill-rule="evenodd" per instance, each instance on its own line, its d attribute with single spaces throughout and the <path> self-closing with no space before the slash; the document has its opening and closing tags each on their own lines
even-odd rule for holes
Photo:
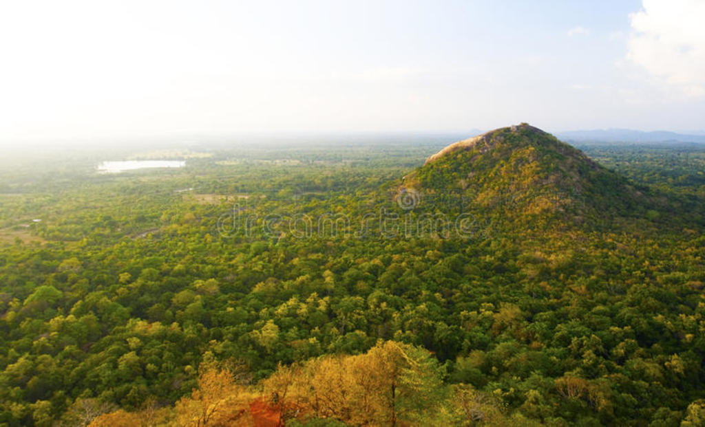
<svg viewBox="0 0 705 427">
<path fill-rule="evenodd" d="M 403 178 L 426 209 L 470 211 L 513 223 L 604 223 L 642 216 L 644 188 L 527 123 L 455 142 Z M 419 207 L 422 203 L 419 203 Z"/>
</svg>

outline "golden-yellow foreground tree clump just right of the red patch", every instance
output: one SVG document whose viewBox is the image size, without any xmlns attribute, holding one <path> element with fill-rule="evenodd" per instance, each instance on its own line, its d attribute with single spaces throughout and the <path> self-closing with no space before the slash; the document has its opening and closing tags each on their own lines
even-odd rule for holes
<svg viewBox="0 0 705 427">
<path fill-rule="evenodd" d="M 426 350 L 380 341 L 366 354 L 279 366 L 263 385 L 281 422 L 310 415 L 359 426 L 429 425 L 441 416 L 441 373 Z"/>
</svg>

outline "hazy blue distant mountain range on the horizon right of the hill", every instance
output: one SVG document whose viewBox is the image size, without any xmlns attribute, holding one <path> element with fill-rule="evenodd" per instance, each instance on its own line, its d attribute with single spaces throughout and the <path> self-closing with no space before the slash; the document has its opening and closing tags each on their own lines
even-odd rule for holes
<svg viewBox="0 0 705 427">
<path fill-rule="evenodd" d="M 695 142 L 705 144 L 705 132 L 682 134 L 665 130 L 654 132 L 631 129 L 571 130 L 556 132 L 556 137 L 568 142 Z"/>
</svg>

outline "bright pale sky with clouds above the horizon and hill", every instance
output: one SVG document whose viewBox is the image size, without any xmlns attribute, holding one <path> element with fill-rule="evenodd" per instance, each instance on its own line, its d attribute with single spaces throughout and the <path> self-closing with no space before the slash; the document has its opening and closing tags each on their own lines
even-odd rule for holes
<svg viewBox="0 0 705 427">
<path fill-rule="evenodd" d="M 705 0 L 0 0 L 0 142 L 703 130 Z"/>
</svg>

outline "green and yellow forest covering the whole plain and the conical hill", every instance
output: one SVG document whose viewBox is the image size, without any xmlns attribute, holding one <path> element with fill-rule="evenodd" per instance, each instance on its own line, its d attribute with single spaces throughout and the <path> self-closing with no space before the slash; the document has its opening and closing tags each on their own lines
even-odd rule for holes
<svg viewBox="0 0 705 427">
<path fill-rule="evenodd" d="M 701 152 L 445 144 L 7 169 L 0 424 L 700 425 Z"/>
</svg>

